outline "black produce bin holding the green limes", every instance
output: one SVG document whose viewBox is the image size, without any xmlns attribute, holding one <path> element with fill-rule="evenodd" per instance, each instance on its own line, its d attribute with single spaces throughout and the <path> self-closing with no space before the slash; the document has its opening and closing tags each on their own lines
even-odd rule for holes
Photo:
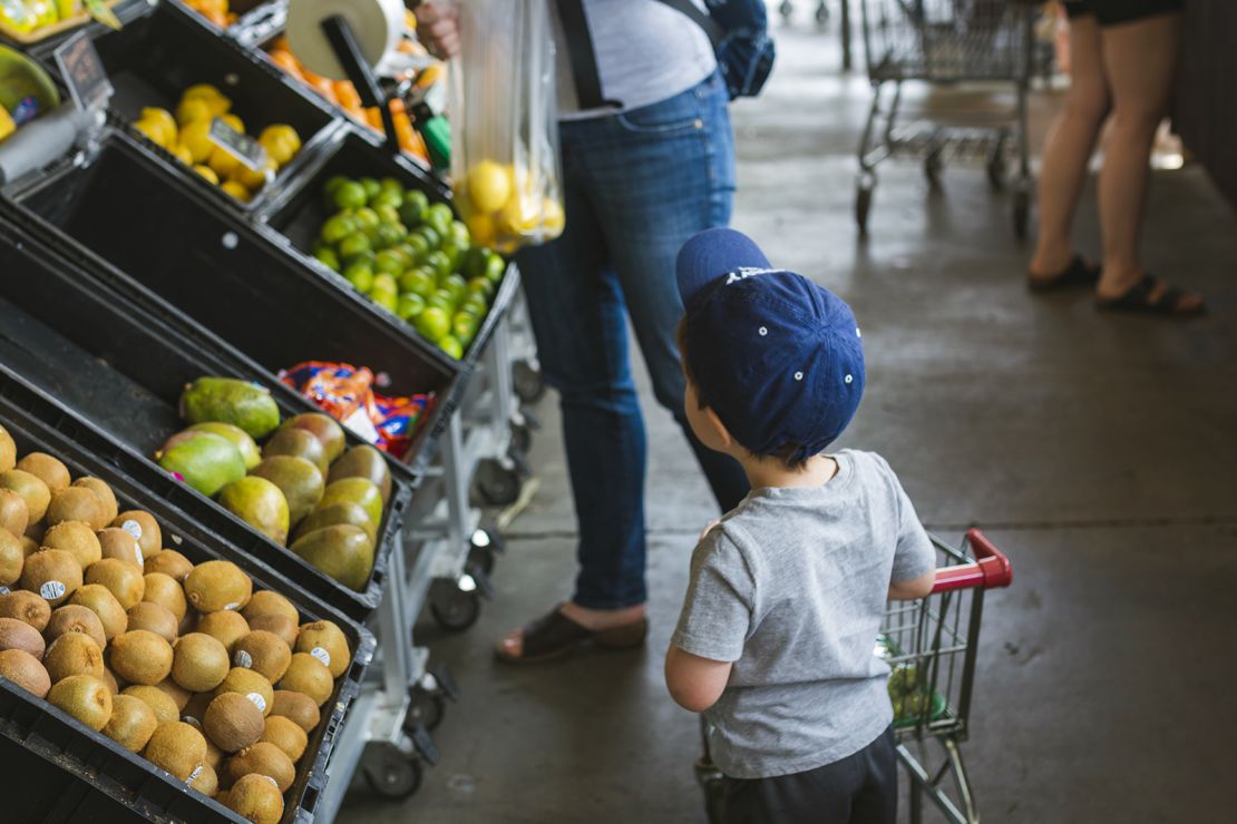
<svg viewBox="0 0 1237 824">
<path fill-rule="evenodd" d="M 392 154 L 377 140 L 377 137 L 354 131 L 353 127 L 336 135 L 332 145 L 323 148 L 313 168 L 301 175 L 296 185 L 272 198 L 263 210 L 263 217 L 271 229 L 286 237 L 304 264 L 322 273 L 323 277 L 335 277 L 335 274 L 314 259 L 312 251 L 323 222 L 330 217 L 322 199 L 323 187 L 330 178 L 335 175 L 395 178 L 409 189 L 424 191 L 430 203 L 449 204 L 452 201 L 450 190 L 438 178 L 421 169 L 402 154 Z M 485 321 L 477 329 L 476 336 L 464 353 L 464 363 L 469 367 L 476 363 L 477 357 L 485 350 L 495 325 L 511 305 L 518 289 L 520 275 L 515 272 L 515 264 L 508 264 L 507 273 L 495 292 L 490 313 L 485 316 Z M 411 325 L 390 313 L 382 311 L 381 314 L 388 325 L 404 336 L 424 346 L 433 346 L 421 337 Z"/>
</svg>

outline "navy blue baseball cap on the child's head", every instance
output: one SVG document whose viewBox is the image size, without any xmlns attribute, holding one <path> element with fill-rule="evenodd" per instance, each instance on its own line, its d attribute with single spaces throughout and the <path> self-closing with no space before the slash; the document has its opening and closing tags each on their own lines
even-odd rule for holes
<svg viewBox="0 0 1237 824">
<path fill-rule="evenodd" d="M 846 301 L 773 268 L 731 229 L 694 235 L 678 257 L 684 355 L 700 400 L 756 455 L 824 452 L 863 397 L 863 346 Z"/>
</svg>

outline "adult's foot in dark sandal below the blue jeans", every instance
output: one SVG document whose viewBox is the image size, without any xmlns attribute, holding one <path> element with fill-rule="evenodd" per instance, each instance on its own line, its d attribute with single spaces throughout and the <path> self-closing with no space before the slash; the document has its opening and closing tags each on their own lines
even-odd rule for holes
<svg viewBox="0 0 1237 824">
<path fill-rule="evenodd" d="M 609 649 L 636 647 L 648 633 L 644 613 L 644 604 L 586 609 L 565 602 L 527 626 L 507 633 L 494 652 L 502 661 L 527 663 L 557 658 L 589 641 Z"/>
</svg>

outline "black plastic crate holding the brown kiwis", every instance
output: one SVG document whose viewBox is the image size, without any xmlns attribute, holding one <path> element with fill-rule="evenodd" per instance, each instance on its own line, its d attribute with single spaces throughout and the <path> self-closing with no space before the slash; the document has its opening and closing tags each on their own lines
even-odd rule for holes
<svg viewBox="0 0 1237 824">
<path fill-rule="evenodd" d="M 335 738 L 374 657 L 374 636 L 146 486 L 148 478 L 143 476 L 150 467 L 135 465 L 134 456 L 100 430 L 64 413 L 42 393 L 20 385 L 10 374 L 0 372 L 0 388 L 4 389 L 0 424 L 12 435 L 19 453 L 48 452 L 74 476 L 101 478 L 116 493 L 121 509 L 150 511 L 163 530 L 165 544 L 194 563 L 231 561 L 254 579 L 255 589 L 273 589 L 287 597 L 303 618 L 332 620 L 344 631 L 353 649 L 353 663 L 335 681 L 335 692 L 323 705 L 323 721 L 309 736 L 307 755 L 285 797 L 283 822 L 312 820 L 330 780 L 327 770 Z M 7 770 L 6 786 L 12 791 L 7 793 L 6 820 L 242 820 L 101 733 L 78 724 L 4 679 L 0 679 L 0 759 Z"/>
</svg>

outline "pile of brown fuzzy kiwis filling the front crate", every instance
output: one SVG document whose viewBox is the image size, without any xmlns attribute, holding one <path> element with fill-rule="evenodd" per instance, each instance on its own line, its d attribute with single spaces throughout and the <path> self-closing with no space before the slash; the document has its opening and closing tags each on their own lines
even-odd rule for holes
<svg viewBox="0 0 1237 824">
<path fill-rule="evenodd" d="M 335 678 L 330 621 L 163 549 L 98 478 L 0 426 L 0 678 L 251 822 L 278 822 Z M 312 756 L 312 754 L 310 754 Z"/>
</svg>

